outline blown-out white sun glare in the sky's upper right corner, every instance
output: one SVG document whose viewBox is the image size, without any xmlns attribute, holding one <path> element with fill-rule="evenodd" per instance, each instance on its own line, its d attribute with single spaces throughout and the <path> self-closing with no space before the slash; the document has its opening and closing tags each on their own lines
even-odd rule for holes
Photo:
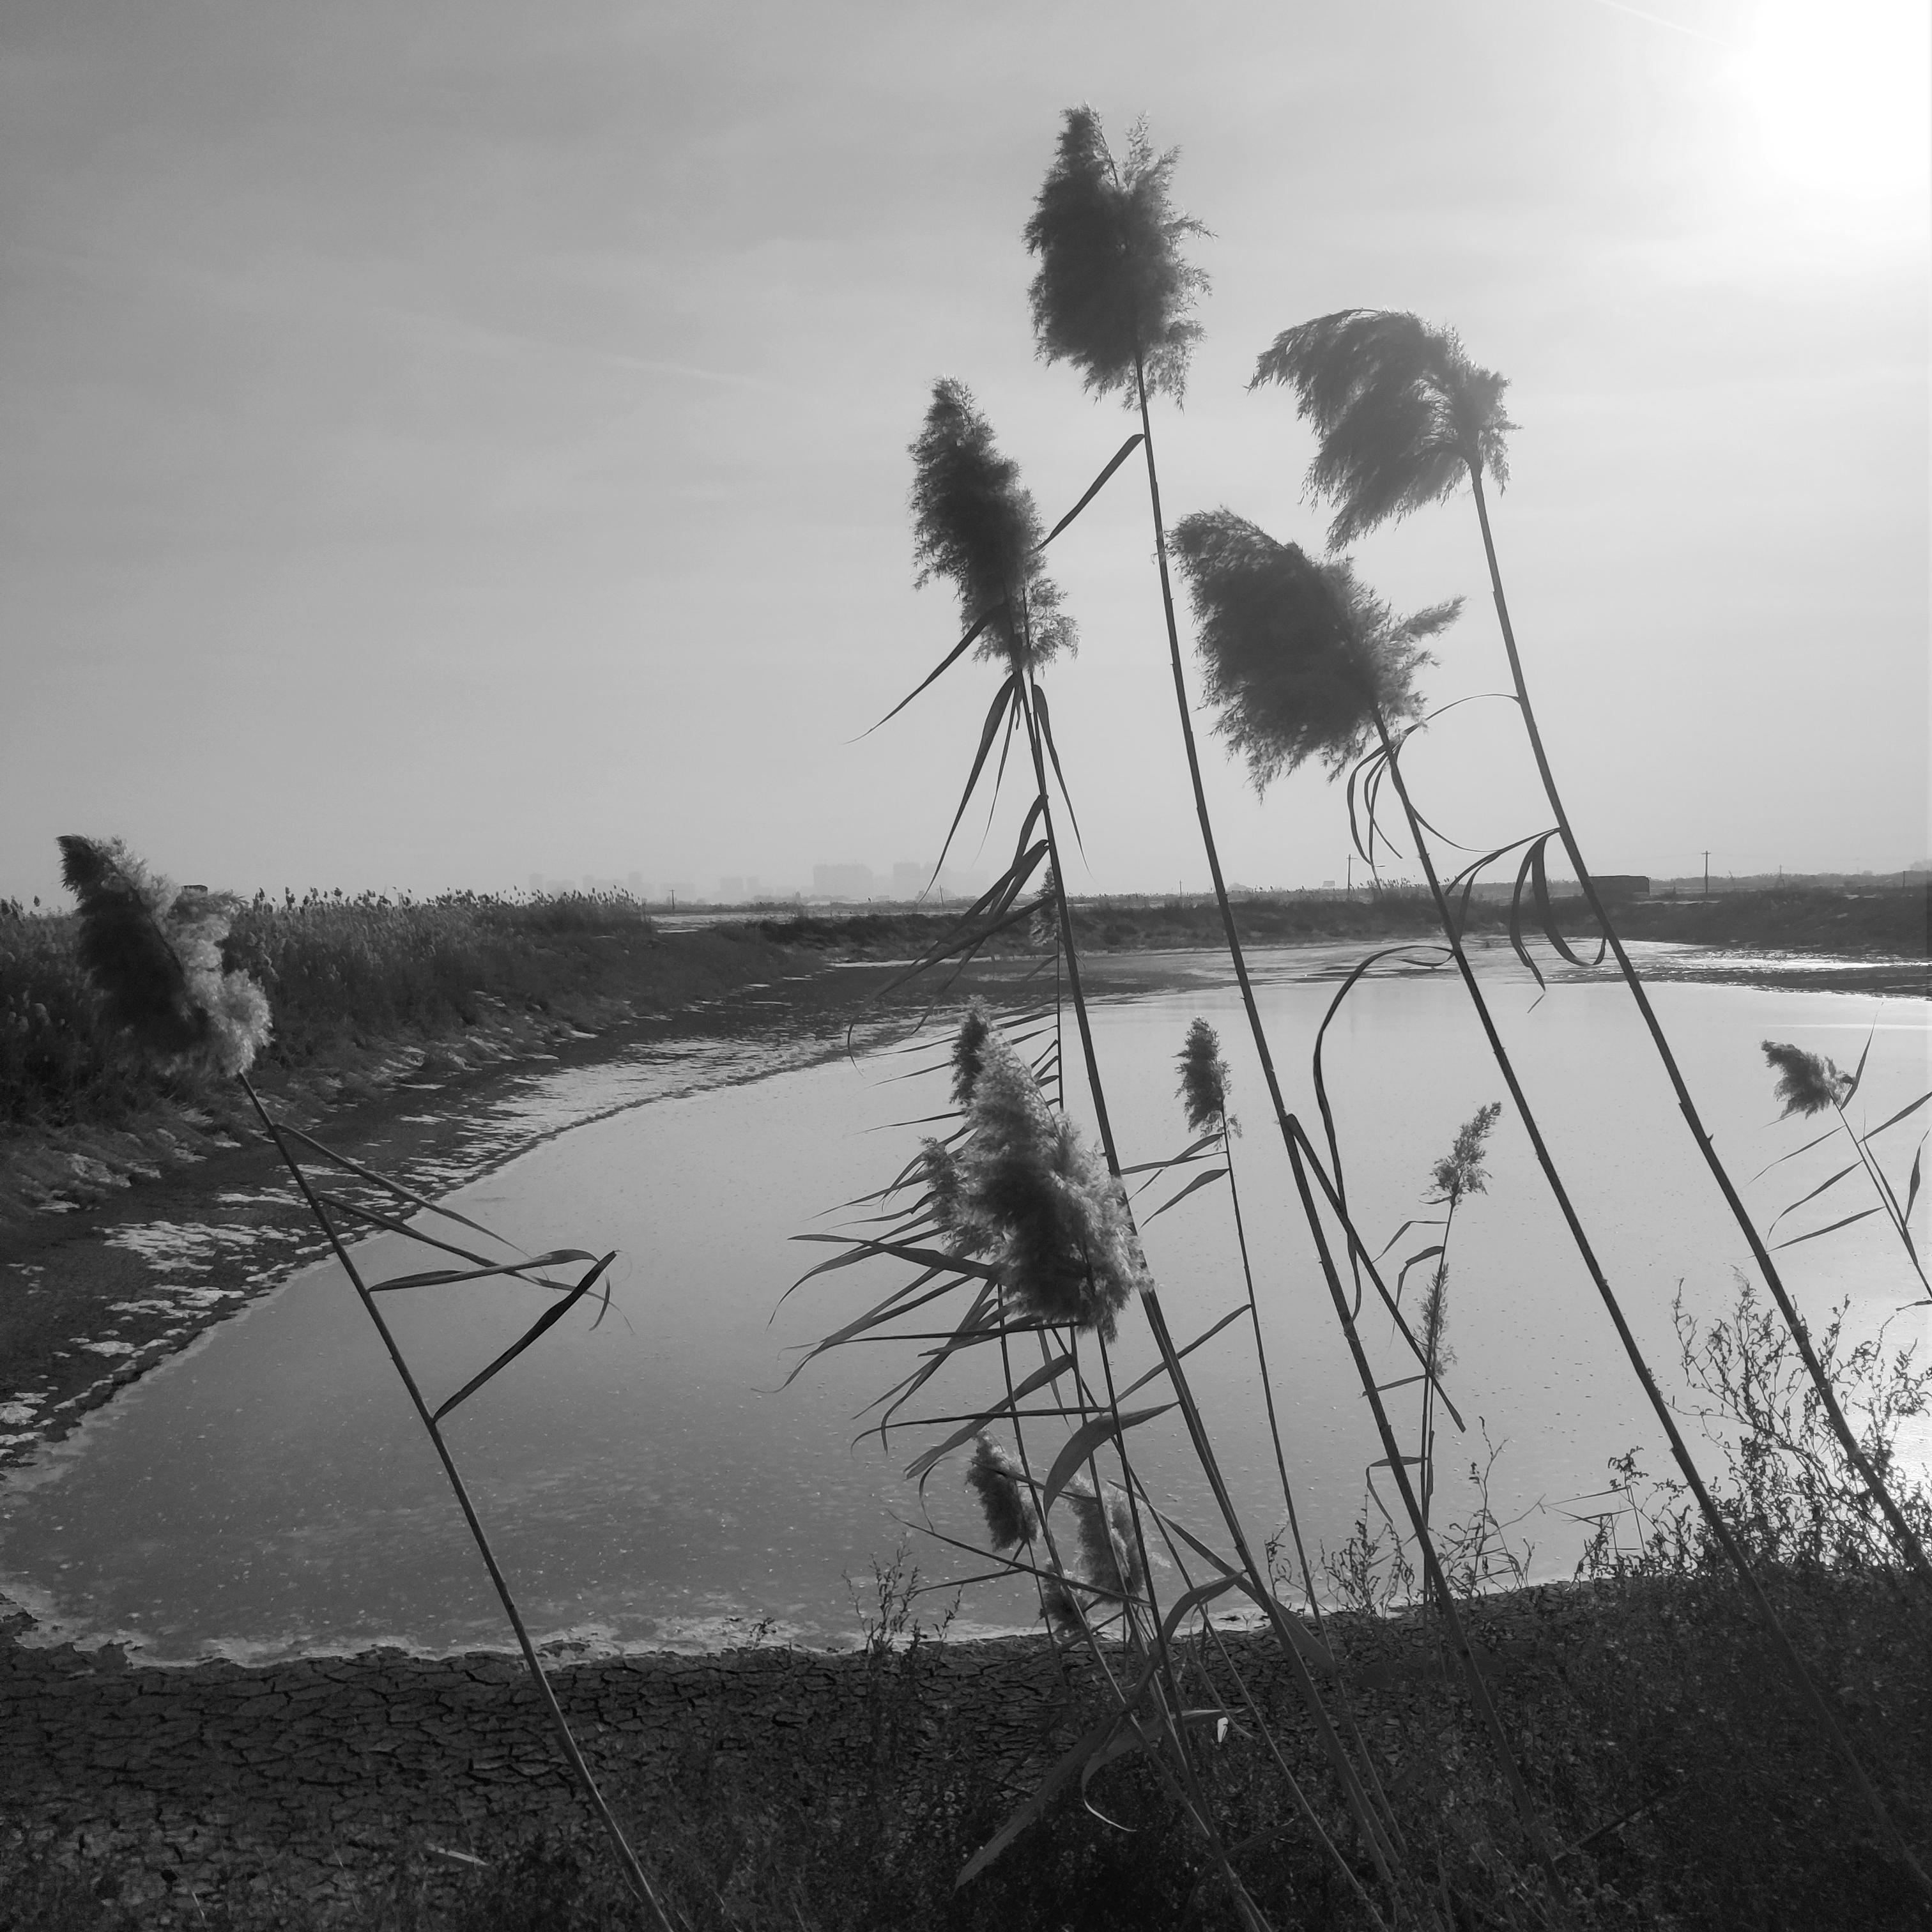
<svg viewBox="0 0 1932 1932">
<path fill-rule="evenodd" d="M 1928 156 L 1926 0 L 1758 0 L 1737 79 L 1766 168 L 1803 187 L 1918 191 Z"/>
</svg>

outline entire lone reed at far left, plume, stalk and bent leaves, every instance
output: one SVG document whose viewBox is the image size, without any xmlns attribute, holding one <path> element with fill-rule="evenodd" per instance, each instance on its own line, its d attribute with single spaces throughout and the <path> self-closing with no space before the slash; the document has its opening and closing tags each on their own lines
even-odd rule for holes
<svg viewBox="0 0 1932 1932">
<path fill-rule="evenodd" d="M 145 1055 L 168 1070 L 191 1068 L 232 1078 L 247 1095 L 265 1136 L 280 1153 L 375 1325 L 410 1406 L 437 1451 L 450 1493 L 516 1636 L 531 1685 L 551 1718 L 572 1774 L 611 1839 L 626 1884 L 651 1909 L 665 1932 L 672 1932 L 670 1918 L 657 1903 L 638 1855 L 605 1803 L 556 1704 L 524 1615 L 456 1466 L 444 1428 L 446 1418 L 593 1293 L 605 1269 L 616 1260 L 614 1252 L 593 1256 L 583 1248 L 553 1248 L 545 1254 L 527 1254 L 468 1215 L 440 1208 L 400 1180 L 278 1122 L 247 1078 L 270 1036 L 269 997 L 247 972 L 224 966 L 222 943 L 230 935 L 234 904 L 201 887 L 178 891 L 151 873 L 118 838 L 64 837 L 60 860 L 62 881 L 77 900 L 73 952 L 93 987 L 100 1024 L 118 1036 L 128 1051 Z M 421 1217 L 433 1217 L 435 1233 Z M 439 1265 L 369 1279 L 352 1252 L 352 1231 L 398 1235 L 439 1256 Z M 462 1265 L 452 1267 L 452 1260 Z M 580 1264 L 589 1265 L 574 1281 L 556 1277 L 556 1269 L 574 1273 Z M 547 1294 L 551 1306 L 495 1360 L 431 1406 L 377 1296 L 485 1279 L 520 1281 Z M 609 1302 L 609 1289 L 605 1298 Z"/>
</svg>

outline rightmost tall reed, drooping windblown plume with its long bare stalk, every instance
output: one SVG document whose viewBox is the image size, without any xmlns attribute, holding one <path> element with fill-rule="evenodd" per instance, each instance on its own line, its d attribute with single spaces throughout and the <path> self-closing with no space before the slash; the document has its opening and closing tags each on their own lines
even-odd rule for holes
<svg viewBox="0 0 1932 1932">
<path fill-rule="evenodd" d="M 1468 359 L 1453 330 L 1430 328 L 1414 315 L 1378 309 L 1341 309 L 1283 330 L 1256 361 L 1250 388 L 1281 383 L 1294 390 L 1300 413 L 1320 437 L 1308 469 L 1308 485 L 1337 506 L 1329 527 L 1329 547 L 1341 549 L 1391 518 L 1430 502 L 1441 502 L 1466 479 L 1482 529 L 1482 553 L 1490 572 L 1490 591 L 1509 659 L 1517 707 L 1536 759 L 1544 798 L 1555 819 L 1555 833 L 1577 873 L 1590 916 L 1617 960 L 1617 972 L 1636 1003 L 1638 1016 L 1677 1095 L 1677 1109 L 1696 1150 L 1723 1196 L 1739 1233 L 1750 1248 L 1764 1285 L 1777 1304 L 1797 1343 L 1804 1372 L 1818 1391 L 1845 1459 L 1884 1511 L 1891 1536 L 1920 1580 L 1932 1584 L 1932 1561 L 1882 1474 L 1866 1457 L 1857 1432 L 1845 1418 L 1832 1378 L 1824 1372 L 1804 1320 L 1785 1289 L 1777 1264 L 1750 1211 L 1731 1180 L 1718 1146 L 1698 1115 L 1677 1055 L 1663 1034 L 1650 993 L 1604 904 L 1590 867 L 1584 864 L 1575 827 L 1557 790 L 1542 726 L 1530 703 L 1522 674 L 1522 655 L 1503 595 L 1503 574 L 1490 527 L 1490 500 L 1484 473 L 1497 485 L 1509 477 L 1507 437 L 1517 425 L 1503 413 L 1505 377 L 1480 369 Z"/>
</svg>

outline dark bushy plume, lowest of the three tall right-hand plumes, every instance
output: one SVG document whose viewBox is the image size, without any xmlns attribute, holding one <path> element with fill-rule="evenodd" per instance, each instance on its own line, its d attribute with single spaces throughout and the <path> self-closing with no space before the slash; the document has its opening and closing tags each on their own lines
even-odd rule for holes
<svg viewBox="0 0 1932 1932">
<path fill-rule="evenodd" d="M 1233 510 L 1182 518 L 1169 539 L 1188 580 L 1208 701 L 1254 788 L 1310 757 L 1343 773 L 1378 734 L 1422 709 L 1422 639 L 1463 601 L 1414 616 L 1393 611 L 1343 560 L 1318 564 Z"/>
</svg>

